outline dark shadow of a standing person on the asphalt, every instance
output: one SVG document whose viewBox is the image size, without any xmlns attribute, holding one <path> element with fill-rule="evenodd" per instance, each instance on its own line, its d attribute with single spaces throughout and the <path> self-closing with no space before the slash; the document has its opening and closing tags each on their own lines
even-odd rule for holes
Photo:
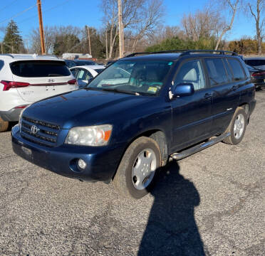
<svg viewBox="0 0 265 256">
<path fill-rule="evenodd" d="M 160 171 L 150 193 L 155 201 L 137 255 L 207 255 L 194 219 L 199 193 L 176 161 Z"/>
</svg>

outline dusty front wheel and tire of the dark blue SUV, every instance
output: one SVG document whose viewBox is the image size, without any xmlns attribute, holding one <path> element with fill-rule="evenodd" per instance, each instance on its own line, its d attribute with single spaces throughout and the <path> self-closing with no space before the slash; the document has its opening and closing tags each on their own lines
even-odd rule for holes
<svg viewBox="0 0 265 256">
<path fill-rule="evenodd" d="M 160 148 L 154 139 L 140 137 L 130 144 L 113 178 L 121 196 L 142 198 L 149 193 L 161 166 Z"/>
</svg>

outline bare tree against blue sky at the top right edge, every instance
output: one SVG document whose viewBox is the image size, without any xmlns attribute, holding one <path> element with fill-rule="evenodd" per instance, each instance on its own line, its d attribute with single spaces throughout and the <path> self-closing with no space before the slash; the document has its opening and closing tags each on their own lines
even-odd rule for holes
<svg viewBox="0 0 265 256">
<path fill-rule="evenodd" d="M 259 54 L 262 53 L 262 39 L 265 30 L 265 0 L 248 2 L 249 11 L 256 23 L 256 40 L 258 41 Z"/>
</svg>

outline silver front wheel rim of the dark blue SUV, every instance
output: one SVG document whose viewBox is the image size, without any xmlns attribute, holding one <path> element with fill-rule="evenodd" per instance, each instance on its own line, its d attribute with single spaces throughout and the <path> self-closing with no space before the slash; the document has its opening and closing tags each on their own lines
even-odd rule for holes
<svg viewBox="0 0 265 256">
<path fill-rule="evenodd" d="M 155 176 L 157 157 L 152 149 L 144 149 L 138 154 L 133 164 L 132 181 L 137 190 L 143 190 L 150 185 Z"/>
</svg>

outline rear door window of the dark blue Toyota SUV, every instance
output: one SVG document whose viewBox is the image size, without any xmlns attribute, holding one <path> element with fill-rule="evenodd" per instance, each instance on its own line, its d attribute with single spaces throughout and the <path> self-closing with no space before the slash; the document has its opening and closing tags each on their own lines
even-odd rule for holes
<svg viewBox="0 0 265 256">
<path fill-rule="evenodd" d="M 228 82 L 227 72 L 221 58 L 205 59 L 211 86 L 221 85 Z"/>
</svg>

